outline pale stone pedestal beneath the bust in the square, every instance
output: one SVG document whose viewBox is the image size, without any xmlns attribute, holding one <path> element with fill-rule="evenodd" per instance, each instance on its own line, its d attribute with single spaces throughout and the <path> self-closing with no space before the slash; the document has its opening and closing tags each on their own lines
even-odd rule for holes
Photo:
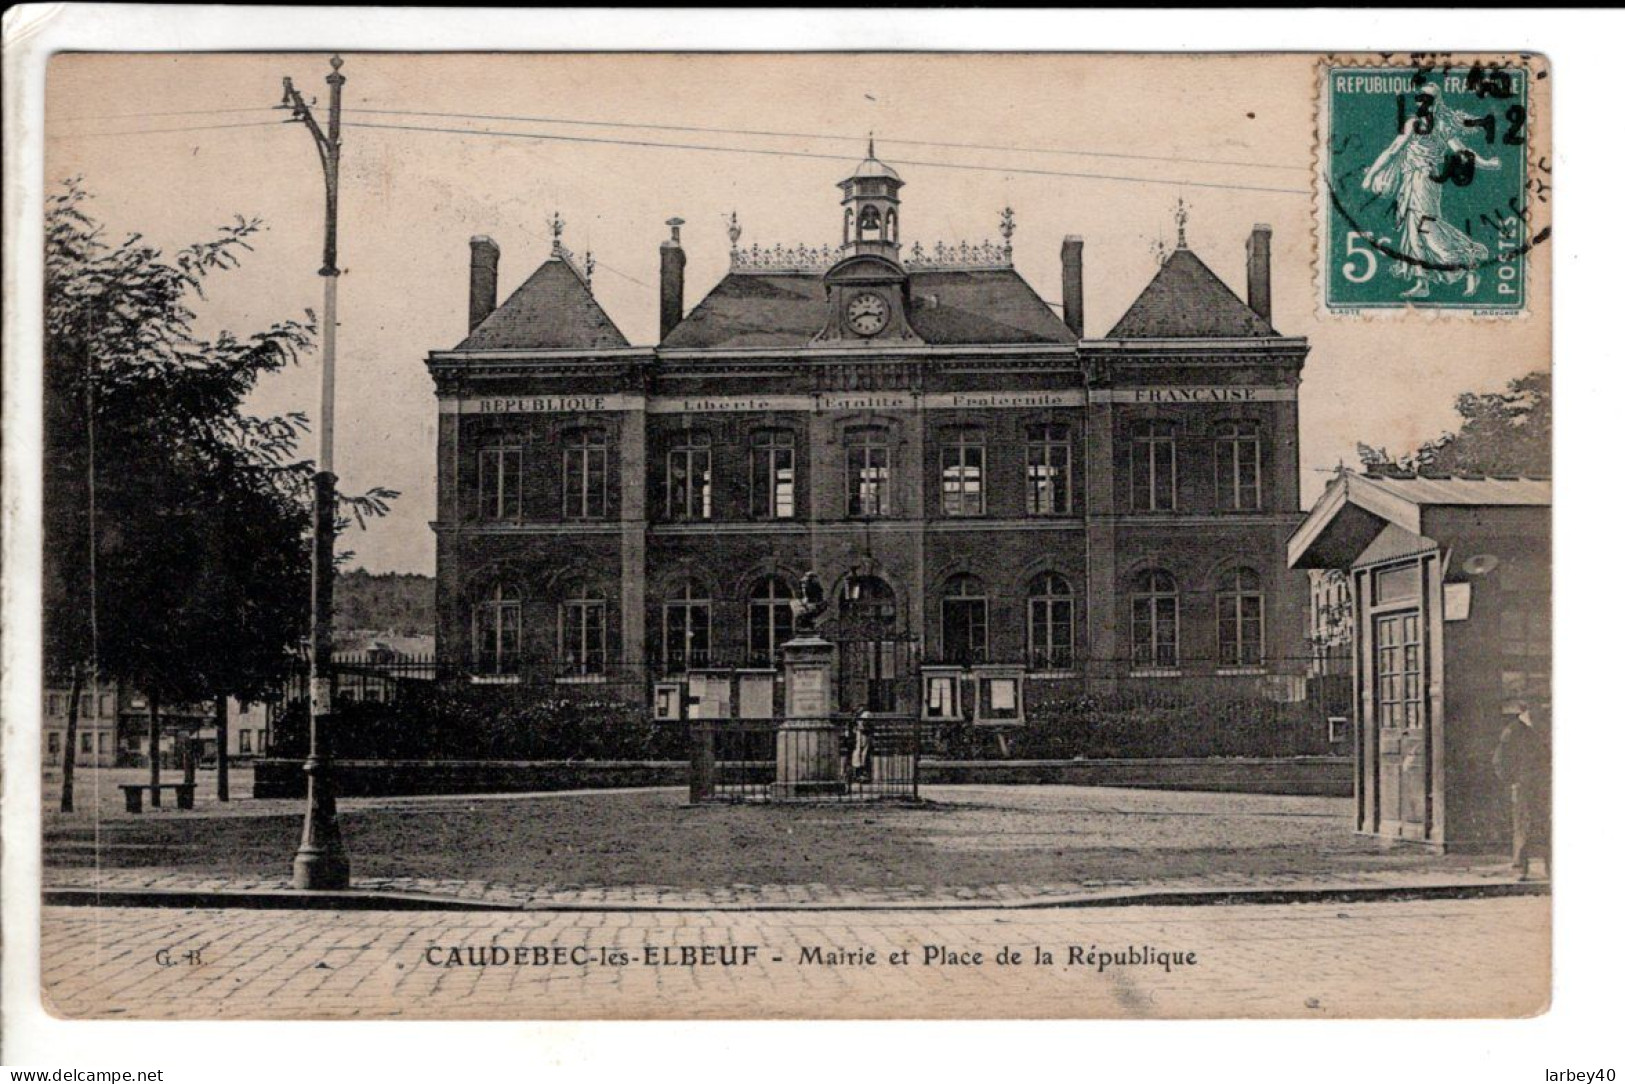
<svg viewBox="0 0 1625 1084">
<path fill-rule="evenodd" d="M 830 718 L 835 645 L 798 635 L 785 652 L 785 722 L 775 743 L 775 798 L 843 795 L 840 726 Z"/>
</svg>

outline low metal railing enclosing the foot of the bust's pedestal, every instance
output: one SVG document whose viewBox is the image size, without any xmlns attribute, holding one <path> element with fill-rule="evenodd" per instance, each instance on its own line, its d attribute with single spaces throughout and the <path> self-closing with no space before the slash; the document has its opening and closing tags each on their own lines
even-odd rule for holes
<svg viewBox="0 0 1625 1084">
<path fill-rule="evenodd" d="M 689 723 L 689 800 L 918 801 L 921 723 L 705 718 Z M 808 725 L 812 723 L 812 725 Z"/>
</svg>

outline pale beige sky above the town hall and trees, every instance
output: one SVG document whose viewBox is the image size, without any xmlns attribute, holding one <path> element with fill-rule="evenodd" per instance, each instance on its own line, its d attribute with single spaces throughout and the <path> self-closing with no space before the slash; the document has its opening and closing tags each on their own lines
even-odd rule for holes
<svg viewBox="0 0 1625 1084">
<path fill-rule="evenodd" d="M 1549 276 L 1532 276 L 1529 312 L 1513 320 L 1323 312 L 1315 63 L 1305 54 L 346 54 L 335 458 L 343 489 L 401 494 L 387 518 L 346 536 L 353 567 L 434 572 L 424 358 L 466 332 L 470 236 L 500 245 L 505 297 L 546 258 L 559 213 L 564 242 L 596 260 L 600 302 L 647 345 L 668 218 L 687 223 L 692 307 L 726 271 L 731 213 L 746 245 L 837 242 L 835 182 L 869 132 L 905 180 L 905 247 L 996 237 L 1008 205 L 1017 271 L 1060 302 L 1061 239 L 1082 236 L 1087 336 L 1105 335 L 1152 278 L 1178 200 L 1190 247 L 1243 296 L 1246 236 L 1271 224 L 1274 325 L 1310 341 L 1305 504 L 1324 471 L 1355 462 L 1357 442 L 1398 452 L 1453 429 L 1459 392 L 1550 367 Z M 81 176 L 112 237 L 140 232 L 171 254 L 237 215 L 262 219 L 244 267 L 210 281 L 205 332 L 320 310 L 322 174 L 310 135 L 275 124 L 288 114 L 273 107 L 286 75 L 325 120 L 328 72 L 322 54 L 57 55 L 47 187 Z M 265 380 L 250 410 L 314 418 L 317 395 L 312 354 Z"/>
</svg>

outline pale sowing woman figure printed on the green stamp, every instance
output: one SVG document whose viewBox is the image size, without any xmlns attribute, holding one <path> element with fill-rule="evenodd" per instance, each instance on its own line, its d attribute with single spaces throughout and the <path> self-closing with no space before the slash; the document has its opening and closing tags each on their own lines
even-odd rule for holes
<svg viewBox="0 0 1625 1084">
<path fill-rule="evenodd" d="M 1474 169 L 1500 169 L 1498 158 L 1485 158 L 1464 140 L 1466 114 L 1440 102 L 1438 86 L 1417 89 L 1417 111 L 1406 119 L 1394 141 L 1376 156 L 1360 187 L 1394 200 L 1399 250 L 1409 257 L 1394 262 L 1394 275 L 1414 278 L 1402 297 L 1427 297 L 1432 283 L 1466 278 L 1462 296 L 1479 289 L 1479 268 L 1490 250 L 1445 221 L 1445 187 L 1467 184 Z"/>
</svg>

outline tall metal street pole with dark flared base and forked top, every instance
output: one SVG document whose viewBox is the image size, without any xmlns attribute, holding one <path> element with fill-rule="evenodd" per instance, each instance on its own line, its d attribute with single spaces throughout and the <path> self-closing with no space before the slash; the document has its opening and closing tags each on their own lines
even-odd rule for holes
<svg viewBox="0 0 1625 1084">
<path fill-rule="evenodd" d="M 315 522 L 310 546 L 310 756 L 306 759 L 309 790 L 304 837 L 294 855 L 296 889 L 348 889 L 349 858 L 338 832 L 338 801 L 333 793 L 333 757 L 328 731 L 333 710 L 333 372 L 338 327 L 338 115 L 344 76 L 343 60 L 333 57 L 327 76 L 327 132 L 310 115 L 292 80 L 283 78 L 283 106 L 292 107 L 315 138 L 327 180 L 327 232 L 322 247 L 322 419 L 315 468 Z"/>
</svg>

